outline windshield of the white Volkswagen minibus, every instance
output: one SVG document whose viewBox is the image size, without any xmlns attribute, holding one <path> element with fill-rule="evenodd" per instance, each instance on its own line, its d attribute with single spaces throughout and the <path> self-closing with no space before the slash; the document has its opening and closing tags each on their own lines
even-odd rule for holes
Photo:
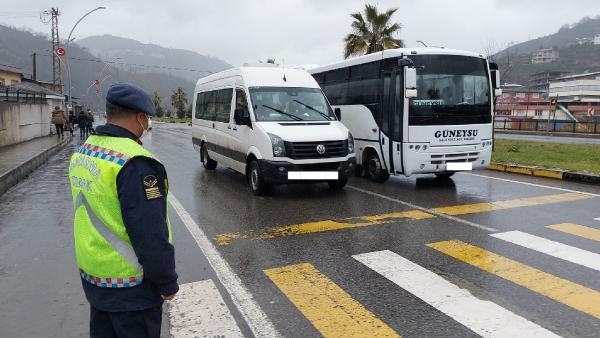
<svg viewBox="0 0 600 338">
<path fill-rule="evenodd" d="M 251 87 L 256 121 L 331 121 L 333 111 L 318 88 Z"/>
</svg>

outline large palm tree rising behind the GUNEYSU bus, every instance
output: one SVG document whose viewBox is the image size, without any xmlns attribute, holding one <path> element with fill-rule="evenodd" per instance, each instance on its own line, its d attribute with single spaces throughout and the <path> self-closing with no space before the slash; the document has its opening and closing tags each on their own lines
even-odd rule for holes
<svg viewBox="0 0 600 338">
<path fill-rule="evenodd" d="M 364 16 L 352 13 L 352 33 L 344 39 L 344 58 L 352 55 L 365 55 L 389 48 L 404 47 L 402 39 L 394 39 L 393 35 L 400 32 L 401 25 L 390 23 L 392 15 L 398 8 L 388 9 L 379 13 L 377 7 L 365 5 Z"/>
</svg>

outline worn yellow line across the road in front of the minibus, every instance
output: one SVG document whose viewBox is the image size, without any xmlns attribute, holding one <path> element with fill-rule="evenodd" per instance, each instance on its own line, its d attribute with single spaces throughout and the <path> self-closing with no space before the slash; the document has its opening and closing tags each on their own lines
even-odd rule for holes
<svg viewBox="0 0 600 338">
<path fill-rule="evenodd" d="M 434 215 L 425 213 L 420 210 L 410 210 L 403 212 L 393 212 L 388 214 L 381 215 L 369 215 L 362 217 L 351 217 L 344 218 L 341 220 L 324 220 L 324 221 L 316 221 L 316 222 L 307 222 L 307 223 L 299 223 L 286 225 L 282 227 L 275 228 L 273 230 L 264 232 L 262 234 L 253 235 L 250 233 L 249 235 L 244 235 L 239 232 L 225 233 L 217 236 L 217 243 L 219 245 L 227 245 L 231 243 L 234 239 L 239 238 L 252 238 L 252 239 L 268 239 L 275 237 L 283 237 L 283 236 L 293 236 L 293 235 L 301 235 L 315 232 L 324 232 L 324 231 L 334 231 L 341 229 L 352 229 L 364 226 L 371 226 L 377 224 L 385 224 L 396 222 L 399 219 L 408 218 L 408 219 L 425 219 L 425 218 L 435 218 Z"/>
</svg>

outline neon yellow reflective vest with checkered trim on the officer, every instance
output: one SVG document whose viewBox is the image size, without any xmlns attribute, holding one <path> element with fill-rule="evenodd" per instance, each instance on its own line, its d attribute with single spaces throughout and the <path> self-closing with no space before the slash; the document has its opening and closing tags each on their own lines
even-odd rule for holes
<svg viewBox="0 0 600 338">
<path fill-rule="evenodd" d="M 117 193 L 117 175 L 127 161 L 138 156 L 158 161 L 132 139 L 92 135 L 71 157 L 69 180 L 75 206 L 77 265 L 83 279 L 100 287 L 131 287 L 144 278 L 123 223 Z M 166 179 L 164 190 L 166 195 Z M 168 217 L 166 221 L 172 243 Z"/>
</svg>

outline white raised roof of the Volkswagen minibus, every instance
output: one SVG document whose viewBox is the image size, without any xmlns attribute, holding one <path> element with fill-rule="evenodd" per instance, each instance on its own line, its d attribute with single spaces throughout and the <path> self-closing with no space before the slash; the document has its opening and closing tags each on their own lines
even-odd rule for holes
<svg viewBox="0 0 600 338">
<path fill-rule="evenodd" d="M 245 87 L 319 88 L 315 79 L 302 69 L 281 67 L 238 67 L 200 78 L 196 89 L 228 78 L 241 78 Z"/>
</svg>

